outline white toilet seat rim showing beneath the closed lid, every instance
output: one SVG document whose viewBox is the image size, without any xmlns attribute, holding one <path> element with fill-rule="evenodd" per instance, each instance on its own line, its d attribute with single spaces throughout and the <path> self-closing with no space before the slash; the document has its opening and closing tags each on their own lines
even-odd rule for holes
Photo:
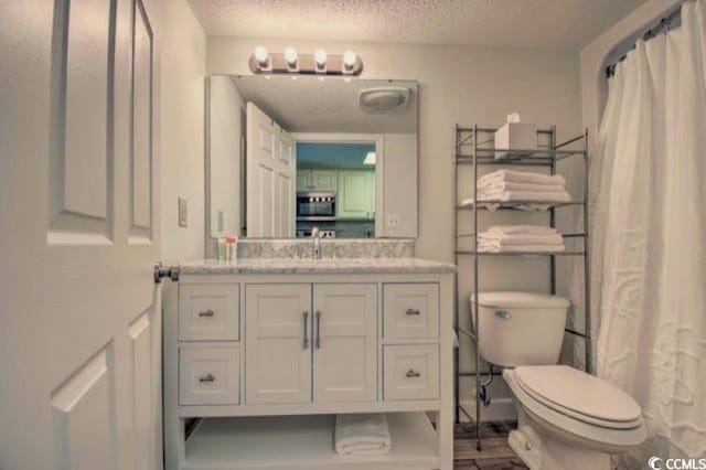
<svg viewBox="0 0 706 470">
<path fill-rule="evenodd" d="M 518 368 L 521 367 L 517 367 L 517 370 Z M 646 429 L 642 418 L 637 420 L 635 427 L 630 428 L 616 427 L 612 421 L 608 420 L 599 425 L 597 423 L 598 420 L 590 423 L 590 416 L 580 415 L 576 412 L 574 412 L 574 416 L 571 416 L 566 413 L 566 410 L 569 410 L 566 406 L 563 406 L 563 409 L 560 409 L 559 406 L 550 403 L 546 398 L 535 398 L 535 396 L 537 396 L 536 393 L 534 396 L 531 395 L 525 392 L 525 388 L 520 384 L 517 370 L 504 370 L 503 377 L 525 413 L 532 416 L 536 423 L 542 424 L 544 428 L 555 429 L 554 432 L 564 436 L 566 439 L 580 441 L 584 442 L 585 446 L 602 449 L 610 453 L 624 451 L 624 449 L 640 445 L 646 438 Z"/>
</svg>

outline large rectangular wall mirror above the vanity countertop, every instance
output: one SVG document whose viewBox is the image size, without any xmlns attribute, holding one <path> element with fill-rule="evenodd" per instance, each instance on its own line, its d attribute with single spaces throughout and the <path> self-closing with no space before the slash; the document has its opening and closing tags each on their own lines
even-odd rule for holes
<svg viewBox="0 0 706 470">
<path fill-rule="evenodd" d="M 418 85 L 211 76 L 213 238 L 417 236 Z"/>
</svg>

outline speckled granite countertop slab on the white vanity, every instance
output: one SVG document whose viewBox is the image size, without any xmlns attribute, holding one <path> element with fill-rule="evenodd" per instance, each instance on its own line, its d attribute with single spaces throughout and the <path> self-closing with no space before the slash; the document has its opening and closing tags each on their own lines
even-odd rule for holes
<svg viewBox="0 0 706 470">
<path fill-rule="evenodd" d="M 180 265 L 182 274 L 439 274 L 456 265 L 421 258 L 240 258 L 203 259 Z"/>
</svg>

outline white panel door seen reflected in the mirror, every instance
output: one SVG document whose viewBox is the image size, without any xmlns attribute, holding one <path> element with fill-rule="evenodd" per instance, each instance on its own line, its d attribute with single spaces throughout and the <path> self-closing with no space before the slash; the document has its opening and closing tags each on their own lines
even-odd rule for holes
<svg viewBox="0 0 706 470">
<path fill-rule="evenodd" d="M 247 104 L 247 235 L 295 236 L 297 153 L 293 138 Z"/>
</svg>

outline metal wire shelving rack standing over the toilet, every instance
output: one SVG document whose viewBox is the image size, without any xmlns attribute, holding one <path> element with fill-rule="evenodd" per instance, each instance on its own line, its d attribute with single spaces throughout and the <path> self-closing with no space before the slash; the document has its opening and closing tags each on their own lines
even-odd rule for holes
<svg viewBox="0 0 706 470">
<path fill-rule="evenodd" d="M 459 274 L 457 271 L 456 275 L 456 297 L 454 297 L 454 328 L 456 335 L 458 340 L 458 348 L 454 350 L 454 388 L 456 388 L 456 421 L 459 423 L 460 415 L 463 414 L 469 420 L 473 421 L 475 425 L 475 447 L 480 451 L 482 450 L 482 435 L 481 435 L 481 423 L 482 423 L 482 407 L 483 405 L 490 404 L 490 398 L 488 395 L 486 387 L 493 380 L 494 375 L 500 375 L 499 372 L 494 370 L 493 364 L 489 364 L 489 372 L 481 372 L 481 357 L 478 353 L 478 312 L 479 312 L 479 296 L 477 295 L 480 291 L 480 268 L 479 268 L 479 259 L 481 257 L 516 257 L 516 256 L 543 256 L 549 258 L 549 286 L 553 295 L 556 295 L 556 258 L 559 256 L 577 256 L 582 258 L 584 264 L 584 319 L 585 325 L 584 331 L 576 331 L 570 328 L 565 328 L 565 332 L 582 338 L 585 342 L 585 368 L 586 372 L 591 372 L 590 366 L 590 357 L 591 357 L 591 331 L 590 331 L 590 263 L 589 263 L 589 233 L 588 233 L 588 130 L 585 130 L 580 136 L 568 139 L 561 143 L 557 143 L 556 141 L 556 127 L 552 126 L 549 129 L 538 129 L 537 130 L 537 140 L 544 141 L 537 149 L 496 149 L 494 147 L 494 133 L 495 128 L 486 128 L 486 127 L 461 127 L 459 125 L 456 126 L 456 147 L 454 147 L 454 158 L 453 158 L 453 196 L 454 196 L 454 216 L 453 216 L 453 253 L 456 264 L 459 265 L 459 260 L 462 256 L 471 256 L 472 257 L 472 290 L 473 300 L 472 300 L 472 327 L 471 331 L 461 328 L 459 318 L 460 318 L 460 306 L 459 302 Z M 582 146 L 581 146 L 582 145 Z M 571 149 L 577 146 L 581 146 L 580 149 Z M 470 153 L 466 153 L 464 151 L 470 150 Z M 495 158 L 498 153 L 504 154 L 503 158 Z M 513 167 L 537 167 L 549 171 L 549 174 L 556 174 L 557 163 L 564 161 L 565 159 L 580 157 L 584 162 L 584 195 L 580 201 L 570 201 L 566 203 L 550 203 L 549 209 L 546 211 L 549 215 L 549 226 L 556 227 L 556 211 L 561 207 L 570 207 L 570 206 L 581 206 L 582 207 L 582 232 L 581 233 L 565 233 L 563 237 L 565 239 L 582 239 L 582 249 L 578 250 L 567 250 L 561 253 L 483 253 L 479 252 L 478 247 L 478 221 L 479 214 L 486 211 L 486 204 L 494 204 L 498 206 L 499 211 L 506 210 L 515 210 L 517 204 L 522 204 L 523 201 L 513 201 L 512 203 L 501 202 L 501 201 L 491 201 L 491 200 L 480 200 L 478 199 L 478 179 L 479 179 L 479 167 L 483 165 L 492 165 L 492 167 L 503 167 L 503 165 L 513 165 Z M 464 188 L 462 184 L 459 184 L 460 171 L 459 169 L 463 165 L 470 165 L 472 172 L 472 184 L 473 184 L 473 203 L 472 204 L 461 204 L 460 203 L 460 194 L 459 189 Z M 468 188 L 468 186 L 466 186 Z M 537 201 L 526 201 L 526 203 L 536 204 Z M 463 213 L 472 214 L 472 233 L 459 233 L 459 217 L 462 216 Z M 462 249 L 459 248 L 459 241 L 470 238 L 471 239 L 471 248 Z M 471 341 L 475 343 L 475 367 L 473 372 L 463 372 L 460 371 L 460 355 L 462 353 L 462 344 L 461 335 L 468 337 Z M 475 381 L 475 415 L 474 417 L 468 413 L 468 410 L 463 407 L 460 400 L 460 377 L 463 376 L 472 376 Z M 485 378 L 483 382 L 482 377 Z"/>
</svg>

